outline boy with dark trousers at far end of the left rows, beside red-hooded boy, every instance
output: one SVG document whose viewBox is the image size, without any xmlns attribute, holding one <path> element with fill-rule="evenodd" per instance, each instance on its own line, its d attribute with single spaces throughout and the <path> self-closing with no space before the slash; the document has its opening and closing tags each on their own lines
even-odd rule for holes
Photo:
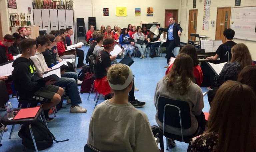
<svg viewBox="0 0 256 152">
<path fill-rule="evenodd" d="M 66 37 L 66 41 L 67 41 L 67 46 L 72 45 L 72 41 L 70 36 L 74 35 L 73 29 L 72 28 L 67 28 L 67 37 Z M 78 57 L 78 63 L 77 63 L 77 69 L 82 69 L 84 66 L 84 51 L 81 49 L 77 49 L 77 48 L 81 48 L 82 45 L 77 45 L 76 46 L 76 56 Z"/>
</svg>

